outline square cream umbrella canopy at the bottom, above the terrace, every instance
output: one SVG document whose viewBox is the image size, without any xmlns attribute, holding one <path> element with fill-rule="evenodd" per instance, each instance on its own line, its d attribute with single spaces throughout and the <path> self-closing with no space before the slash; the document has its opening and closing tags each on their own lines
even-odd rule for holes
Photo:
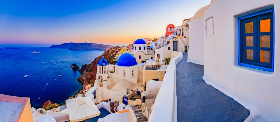
<svg viewBox="0 0 280 122">
<path fill-rule="evenodd" d="M 65 100 L 71 122 L 83 121 L 100 115 L 100 111 L 90 97 L 76 97 Z"/>
</svg>

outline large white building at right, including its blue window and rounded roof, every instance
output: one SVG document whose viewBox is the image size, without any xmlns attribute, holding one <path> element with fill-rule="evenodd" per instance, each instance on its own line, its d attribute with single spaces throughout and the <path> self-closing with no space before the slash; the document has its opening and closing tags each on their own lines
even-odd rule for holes
<svg viewBox="0 0 280 122">
<path fill-rule="evenodd" d="M 278 5 L 211 0 L 190 22 L 188 61 L 204 65 L 206 83 L 250 110 L 246 121 L 280 120 Z"/>
</svg>

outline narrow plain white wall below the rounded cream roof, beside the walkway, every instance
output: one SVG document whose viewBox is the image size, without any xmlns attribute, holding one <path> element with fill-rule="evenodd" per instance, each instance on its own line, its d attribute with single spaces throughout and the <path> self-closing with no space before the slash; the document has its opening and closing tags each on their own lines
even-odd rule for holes
<svg viewBox="0 0 280 122">
<path fill-rule="evenodd" d="M 188 62 L 203 65 L 204 50 L 204 26 L 203 18 L 190 22 L 190 38 Z"/>
</svg>

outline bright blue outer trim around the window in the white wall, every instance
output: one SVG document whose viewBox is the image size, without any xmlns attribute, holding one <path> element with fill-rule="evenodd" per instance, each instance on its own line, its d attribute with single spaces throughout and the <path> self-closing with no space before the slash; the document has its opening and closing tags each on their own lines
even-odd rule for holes
<svg viewBox="0 0 280 122">
<path fill-rule="evenodd" d="M 242 63 L 241 62 L 241 53 L 243 53 L 243 52 L 241 52 L 241 20 L 243 20 L 243 19 L 246 19 L 246 18 L 250 18 L 250 17 L 254 17 L 254 16 L 257 16 L 257 15 L 262 15 L 262 14 L 265 14 L 265 13 L 269 13 L 269 12 L 272 12 L 272 25 L 273 25 L 273 33 L 272 33 L 272 35 L 273 35 L 273 37 L 272 37 L 272 43 L 273 43 L 273 45 L 272 45 L 272 68 L 267 68 L 267 67 L 261 67 L 261 66 L 256 66 L 256 65 L 251 65 L 251 64 L 246 64 L 246 63 Z M 255 23 L 255 24 L 257 24 L 257 23 Z M 255 25 L 254 24 L 254 25 Z M 254 27 L 254 35 L 256 34 L 256 33 L 258 33 L 258 32 L 255 32 L 255 27 Z M 272 9 L 268 9 L 268 10 L 265 10 L 265 11 L 260 11 L 260 12 L 257 12 L 257 13 L 253 13 L 253 14 L 250 14 L 250 15 L 246 15 L 246 16 L 243 16 L 243 17 L 240 17 L 240 18 L 238 18 L 238 34 L 239 34 L 239 41 L 238 41 L 238 65 L 241 65 L 241 66 L 245 66 L 245 67 L 250 67 L 250 68 L 254 68 L 254 69 L 260 69 L 260 70 L 264 70 L 264 71 L 269 71 L 269 72 L 274 72 L 274 41 L 275 41 L 275 39 L 274 39 L 274 8 L 272 8 Z M 258 34 L 257 34 L 258 35 Z M 255 43 L 254 43 L 254 45 L 255 45 Z M 256 48 L 255 46 L 254 46 L 254 48 Z M 254 49 L 255 50 L 255 49 Z M 258 51 L 258 50 L 257 50 Z M 255 51 L 254 51 L 254 55 L 257 55 L 258 53 L 255 53 Z M 254 59 L 255 59 L 255 56 L 254 56 Z M 258 58 L 256 58 L 255 60 L 258 60 Z"/>
</svg>

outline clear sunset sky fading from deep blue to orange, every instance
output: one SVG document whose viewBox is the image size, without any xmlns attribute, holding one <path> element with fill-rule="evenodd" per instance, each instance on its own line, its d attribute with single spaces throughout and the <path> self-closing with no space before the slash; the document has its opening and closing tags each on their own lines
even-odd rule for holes
<svg viewBox="0 0 280 122">
<path fill-rule="evenodd" d="M 0 0 L 0 47 L 159 38 L 210 0 Z"/>
</svg>

